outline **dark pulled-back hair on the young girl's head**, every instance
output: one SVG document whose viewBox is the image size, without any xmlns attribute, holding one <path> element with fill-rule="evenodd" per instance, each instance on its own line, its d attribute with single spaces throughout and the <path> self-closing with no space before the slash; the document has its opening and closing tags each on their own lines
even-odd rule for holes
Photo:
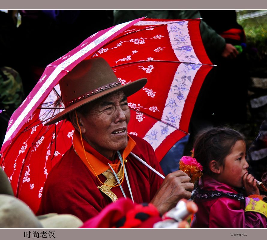
<svg viewBox="0 0 267 240">
<path fill-rule="evenodd" d="M 211 175 L 209 163 L 215 160 L 224 166 L 226 156 L 238 140 L 245 141 L 244 135 L 230 128 L 209 128 L 201 131 L 193 144 L 194 158 L 203 167 L 203 174 Z"/>
</svg>

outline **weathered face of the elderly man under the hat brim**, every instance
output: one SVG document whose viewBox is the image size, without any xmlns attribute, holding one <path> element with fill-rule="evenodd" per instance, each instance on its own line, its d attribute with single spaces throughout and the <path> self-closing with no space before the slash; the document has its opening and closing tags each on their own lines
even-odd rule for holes
<svg viewBox="0 0 267 240">
<path fill-rule="evenodd" d="M 123 91 L 101 98 L 80 119 L 84 139 L 106 158 L 112 159 L 117 150 L 127 146 L 130 109 Z"/>
</svg>

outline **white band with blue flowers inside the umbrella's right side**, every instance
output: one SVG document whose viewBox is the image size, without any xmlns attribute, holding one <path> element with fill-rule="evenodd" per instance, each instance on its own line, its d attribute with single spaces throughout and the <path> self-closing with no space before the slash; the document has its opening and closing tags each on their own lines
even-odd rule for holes
<svg viewBox="0 0 267 240">
<path fill-rule="evenodd" d="M 176 23 L 177 24 L 177 23 Z M 170 24 L 168 25 L 168 32 L 170 37 L 170 42 L 172 44 L 172 48 L 174 49 L 174 52 L 176 54 L 176 57 L 179 59 L 179 61 L 188 61 L 188 57 L 191 56 L 193 62 L 199 63 L 199 59 L 196 57 L 196 54 L 193 50 L 191 51 L 181 51 L 176 50 L 177 48 L 181 48 L 182 46 L 186 45 L 188 47 L 192 47 L 192 43 L 190 39 L 187 39 L 186 44 L 183 43 L 183 45 L 177 44 L 177 36 L 175 32 L 172 32 L 172 26 L 176 25 Z M 188 21 L 184 23 L 183 25 L 179 25 L 179 31 L 182 32 L 182 36 L 188 36 Z M 193 47 L 192 47 L 193 49 Z M 187 56 L 187 58 L 185 58 Z M 199 66 L 199 67 L 198 67 Z M 193 67 L 193 68 L 192 68 Z M 180 64 L 176 70 L 176 73 L 173 78 L 173 82 L 170 87 L 170 91 L 168 92 L 168 97 L 165 102 L 165 107 L 162 113 L 161 120 L 162 122 L 166 122 L 167 124 L 170 124 L 177 129 L 179 129 L 182 111 L 184 108 L 184 103 L 179 104 L 180 102 L 184 102 L 187 98 L 187 95 L 190 91 L 190 87 L 192 85 L 193 79 L 196 76 L 196 72 L 199 70 L 201 65 L 192 65 L 189 64 Z M 194 69 L 195 68 L 195 69 Z M 189 77 L 189 79 L 188 79 Z M 185 85 L 183 86 L 183 82 L 185 82 Z M 179 89 L 178 86 L 183 89 Z M 180 94 L 179 94 L 180 92 Z M 182 105 L 182 106 L 181 106 Z M 149 129 L 149 131 L 146 133 L 144 139 L 150 143 L 150 145 L 153 147 L 154 150 L 158 148 L 158 146 L 161 145 L 163 140 L 170 135 L 172 132 L 177 130 L 176 128 L 173 128 L 171 126 L 165 125 L 161 122 L 156 122 L 152 128 Z"/>
</svg>

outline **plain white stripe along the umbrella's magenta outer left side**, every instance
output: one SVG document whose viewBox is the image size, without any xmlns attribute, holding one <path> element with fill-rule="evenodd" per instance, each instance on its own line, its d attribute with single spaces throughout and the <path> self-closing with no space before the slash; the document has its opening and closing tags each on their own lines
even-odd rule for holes
<svg viewBox="0 0 267 240">
<path fill-rule="evenodd" d="M 47 89 L 49 89 L 49 91 L 52 90 L 53 86 L 56 84 L 55 83 L 54 85 L 52 85 L 52 83 L 55 80 L 55 78 L 58 76 L 58 74 L 61 72 L 61 70 L 64 70 L 65 67 L 69 66 L 71 63 L 76 61 L 81 56 L 85 55 L 86 53 L 89 53 L 89 51 L 91 49 L 93 49 L 98 44 L 101 44 L 105 39 L 107 39 L 108 37 L 112 36 L 113 34 L 118 32 L 120 29 L 124 28 L 127 25 L 131 26 L 132 22 L 133 21 L 125 22 L 125 23 L 122 23 L 122 24 L 114 26 L 112 29 L 110 29 L 109 31 L 105 32 L 103 35 L 101 35 L 95 41 L 91 42 L 90 44 L 85 46 L 83 49 L 81 49 L 79 52 L 75 53 L 73 56 L 67 58 L 64 62 L 59 64 L 55 68 L 55 70 L 50 74 L 50 76 L 46 79 L 46 81 L 43 82 L 43 85 L 41 85 L 41 87 L 38 90 L 38 92 L 35 94 L 35 96 L 32 98 L 32 100 L 29 102 L 29 104 L 24 108 L 24 110 L 19 114 L 19 116 L 16 118 L 15 122 L 13 123 L 13 125 L 8 129 L 8 131 L 7 131 L 6 135 L 5 135 L 5 139 L 4 139 L 3 145 L 11 137 L 14 137 L 15 134 L 19 131 L 19 129 L 24 125 L 25 121 L 23 121 L 23 120 L 27 120 L 25 118 L 27 117 L 27 115 L 29 115 L 30 110 L 32 110 L 32 108 L 36 104 L 41 104 L 43 98 L 46 97 L 46 96 L 44 96 L 44 92 Z"/>
</svg>

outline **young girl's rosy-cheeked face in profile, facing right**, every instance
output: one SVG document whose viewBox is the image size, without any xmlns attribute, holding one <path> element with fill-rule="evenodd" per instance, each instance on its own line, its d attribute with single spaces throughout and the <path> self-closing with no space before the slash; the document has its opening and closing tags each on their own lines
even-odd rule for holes
<svg viewBox="0 0 267 240">
<path fill-rule="evenodd" d="M 224 167 L 219 167 L 220 173 L 217 180 L 232 187 L 243 187 L 242 177 L 247 173 L 248 163 L 246 161 L 246 144 L 238 140 L 232 151 L 226 156 Z"/>
</svg>

